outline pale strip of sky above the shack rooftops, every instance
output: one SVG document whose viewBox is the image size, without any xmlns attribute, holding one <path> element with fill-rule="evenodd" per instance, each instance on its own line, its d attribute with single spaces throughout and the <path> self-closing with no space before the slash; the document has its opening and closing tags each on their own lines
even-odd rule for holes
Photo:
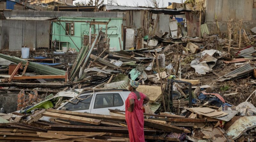
<svg viewBox="0 0 256 142">
<path fill-rule="evenodd" d="M 74 1 L 74 3 L 78 1 L 84 1 L 84 0 L 76 0 Z M 88 0 L 85 0 L 85 1 L 88 1 Z M 136 6 L 138 4 L 139 6 L 147 6 L 147 0 L 112 0 L 112 2 L 113 1 L 116 1 L 118 5 Z M 159 7 L 167 7 L 168 2 L 181 3 L 181 0 L 159 0 L 159 1 L 160 1 Z M 183 0 L 183 2 L 184 1 L 185 0 Z M 108 0 L 104 0 L 104 3 L 107 4 Z"/>
</svg>

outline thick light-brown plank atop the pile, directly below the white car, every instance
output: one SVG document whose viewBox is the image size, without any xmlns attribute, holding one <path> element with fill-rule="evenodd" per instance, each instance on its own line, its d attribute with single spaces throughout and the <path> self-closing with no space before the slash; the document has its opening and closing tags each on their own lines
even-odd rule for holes
<svg viewBox="0 0 256 142">
<path fill-rule="evenodd" d="M 72 111 L 69 111 L 69 112 L 72 112 Z M 42 116 L 60 118 L 60 119 L 64 119 L 64 120 L 71 120 L 71 121 L 89 123 L 89 124 L 95 124 L 95 125 L 99 125 L 101 123 L 101 120 L 98 120 L 98 119 L 84 118 L 84 117 L 80 117 L 80 116 L 71 116 L 71 115 L 53 113 L 53 112 L 44 112 L 42 114 Z"/>
</svg>

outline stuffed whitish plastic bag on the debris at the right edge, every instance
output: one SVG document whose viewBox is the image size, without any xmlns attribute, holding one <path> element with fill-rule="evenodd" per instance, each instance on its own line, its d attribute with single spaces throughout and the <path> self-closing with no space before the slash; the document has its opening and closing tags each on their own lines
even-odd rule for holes
<svg viewBox="0 0 256 142">
<path fill-rule="evenodd" d="M 253 114 L 256 114 L 256 108 L 248 101 L 236 106 L 236 111 L 240 112 L 240 116 L 253 116 Z"/>
</svg>

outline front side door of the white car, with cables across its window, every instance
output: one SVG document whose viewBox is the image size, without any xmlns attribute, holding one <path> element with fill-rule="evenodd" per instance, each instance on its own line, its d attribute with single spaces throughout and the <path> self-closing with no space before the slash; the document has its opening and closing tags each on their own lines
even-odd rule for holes
<svg viewBox="0 0 256 142">
<path fill-rule="evenodd" d="M 77 99 L 71 99 L 71 102 L 64 104 L 59 109 L 68 111 L 85 112 L 90 113 L 92 108 L 93 94 L 84 94 Z"/>
</svg>

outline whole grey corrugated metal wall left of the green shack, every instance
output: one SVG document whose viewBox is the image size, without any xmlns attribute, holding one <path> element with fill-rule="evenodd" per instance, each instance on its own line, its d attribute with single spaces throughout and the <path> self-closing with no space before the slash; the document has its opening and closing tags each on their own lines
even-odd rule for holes
<svg viewBox="0 0 256 142">
<path fill-rule="evenodd" d="M 0 20 L 0 49 L 20 51 L 22 46 L 49 48 L 50 21 Z"/>
</svg>

